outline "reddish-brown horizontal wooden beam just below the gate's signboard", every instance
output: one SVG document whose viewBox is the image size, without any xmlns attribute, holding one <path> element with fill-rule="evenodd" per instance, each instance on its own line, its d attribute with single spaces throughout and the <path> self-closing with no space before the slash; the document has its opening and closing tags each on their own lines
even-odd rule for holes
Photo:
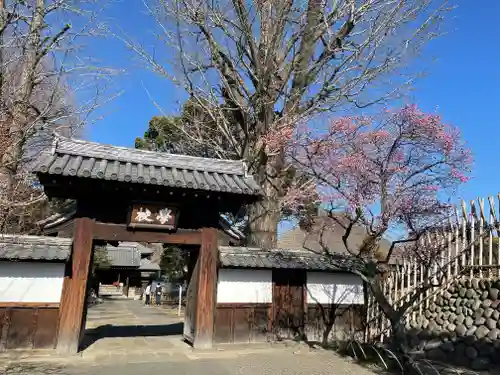
<svg viewBox="0 0 500 375">
<path fill-rule="evenodd" d="M 148 230 L 130 230 L 124 224 L 94 224 L 94 239 L 106 241 L 130 241 L 168 243 L 172 245 L 199 245 L 200 231 L 166 233 Z"/>
</svg>

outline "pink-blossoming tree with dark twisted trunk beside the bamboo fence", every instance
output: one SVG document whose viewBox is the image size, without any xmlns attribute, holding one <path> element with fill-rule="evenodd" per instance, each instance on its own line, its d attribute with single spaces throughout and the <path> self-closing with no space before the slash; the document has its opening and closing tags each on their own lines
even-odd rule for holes
<svg viewBox="0 0 500 375">
<path fill-rule="evenodd" d="M 416 288 L 406 303 L 391 304 L 382 291 L 378 244 L 389 233 L 392 237 L 399 233 L 384 254 L 385 261 L 405 256 L 430 272 L 430 264 L 443 249 L 438 242 L 423 246 L 420 239 L 448 219 L 447 199 L 468 180 L 471 168 L 470 152 L 458 130 L 438 115 L 408 105 L 376 116 L 342 117 L 321 133 L 307 127 L 293 134 L 282 129 L 264 140 L 271 150 L 285 141 L 301 180 L 283 203 L 297 216 L 309 212 L 306 207 L 311 203 L 326 210 L 333 228 L 325 230 L 342 231 L 343 251 L 351 261 L 334 256 L 339 249 L 323 246 L 325 254 L 366 282 L 397 335 L 405 311 L 421 293 L 436 286 L 436 280 L 424 275 L 428 282 Z M 366 230 L 365 236 L 353 246 L 349 236 L 359 226 Z"/>
</svg>

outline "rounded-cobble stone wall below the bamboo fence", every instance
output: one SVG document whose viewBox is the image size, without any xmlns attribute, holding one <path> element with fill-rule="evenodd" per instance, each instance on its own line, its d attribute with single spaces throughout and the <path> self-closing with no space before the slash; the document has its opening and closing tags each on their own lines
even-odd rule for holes
<svg viewBox="0 0 500 375">
<path fill-rule="evenodd" d="M 429 359 L 484 370 L 500 364 L 500 280 L 463 278 L 408 325 L 410 346 Z"/>
</svg>

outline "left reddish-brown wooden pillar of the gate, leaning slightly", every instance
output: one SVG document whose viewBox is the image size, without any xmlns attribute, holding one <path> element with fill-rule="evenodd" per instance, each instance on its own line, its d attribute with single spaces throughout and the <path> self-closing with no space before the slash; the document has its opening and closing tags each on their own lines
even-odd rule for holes
<svg viewBox="0 0 500 375">
<path fill-rule="evenodd" d="M 87 279 L 92 258 L 92 229 L 89 218 L 75 219 L 71 271 L 64 280 L 59 309 L 57 351 L 65 354 L 78 352 L 80 335 L 85 325 Z"/>
</svg>

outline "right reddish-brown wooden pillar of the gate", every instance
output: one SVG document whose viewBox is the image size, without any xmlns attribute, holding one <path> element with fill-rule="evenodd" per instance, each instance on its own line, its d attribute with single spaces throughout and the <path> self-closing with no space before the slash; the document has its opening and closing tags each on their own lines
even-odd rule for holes
<svg viewBox="0 0 500 375">
<path fill-rule="evenodd" d="M 217 291 L 217 240 L 218 230 L 203 228 L 199 255 L 199 279 L 196 298 L 195 332 L 193 347 L 212 347 Z"/>
</svg>

